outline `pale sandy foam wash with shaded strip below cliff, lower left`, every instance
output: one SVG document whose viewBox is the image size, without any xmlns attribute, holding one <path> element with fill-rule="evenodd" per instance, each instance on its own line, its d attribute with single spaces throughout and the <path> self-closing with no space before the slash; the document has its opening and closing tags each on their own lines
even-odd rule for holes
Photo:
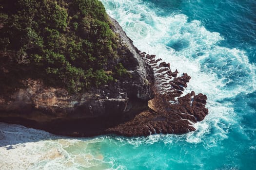
<svg viewBox="0 0 256 170">
<path fill-rule="evenodd" d="M 73 139 L 20 125 L 0 123 L 1 170 L 109 169 L 98 142 L 104 137 Z"/>
</svg>

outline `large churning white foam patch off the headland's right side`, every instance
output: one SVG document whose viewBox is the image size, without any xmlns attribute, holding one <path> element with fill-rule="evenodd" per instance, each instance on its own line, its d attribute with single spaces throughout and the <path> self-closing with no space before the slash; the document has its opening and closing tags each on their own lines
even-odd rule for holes
<svg viewBox="0 0 256 170">
<path fill-rule="evenodd" d="M 101 1 L 140 51 L 156 54 L 156 59 L 170 62 L 172 71 L 192 77 L 184 94 L 193 90 L 207 95 L 209 115 L 194 125 L 197 131 L 188 133 L 186 141 L 202 142 L 214 133 L 210 146 L 226 138 L 227 129 L 236 123 L 236 113 L 233 103 L 223 101 L 256 90 L 256 67 L 246 53 L 218 46 L 224 39 L 219 33 L 209 32 L 198 20 L 188 22 L 183 14 L 158 16 L 141 0 Z M 177 43 L 182 49 L 176 49 Z"/>
</svg>

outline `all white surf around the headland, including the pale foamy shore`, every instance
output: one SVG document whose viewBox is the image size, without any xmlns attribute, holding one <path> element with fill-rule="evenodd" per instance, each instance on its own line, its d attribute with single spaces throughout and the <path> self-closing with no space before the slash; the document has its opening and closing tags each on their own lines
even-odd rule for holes
<svg viewBox="0 0 256 170">
<path fill-rule="evenodd" d="M 244 51 L 219 47 L 223 40 L 218 33 L 207 31 L 197 20 L 188 22 L 182 14 L 161 17 L 142 4 L 141 0 L 102 0 L 107 12 L 118 20 L 139 50 L 156 54 L 170 62 L 172 71 L 188 73 L 192 79 L 185 93 L 194 90 L 208 97 L 209 115 L 195 123 L 195 132 L 185 135 L 152 135 L 148 137 L 109 137 L 73 139 L 53 136 L 44 131 L 20 125 L 0 123 L 0 169 L 109 169 L 114 160 L 106 162 L 97 143 L 109 140 L 117 146 L 151 145 L 164 142 L 171 145 L 179 141 L 204 143 L 213 147 L 218 140 L 227 138 L 229 129 L 236 123 L 232 102 L 239 93 L 256 90 L 256 67 L 249 63 Z M 134 5 L 137 4 L 137 5 Z M 183 43 L 175 50 L 175 43 Z M 236 75 L 236 77 L 232 77 Z M 244 76 L 246 75 L 246 76 Z M 234 82 L 234 84 L 232 84 Z M 211 133 L 211 136 L 207 136 Z M 206 139 L 207 138 L 207 139 Z M 255 150 L 255 146 L 248 146 Z M 116 169 L 125 170 L 118 166 Z"/>
</svg>

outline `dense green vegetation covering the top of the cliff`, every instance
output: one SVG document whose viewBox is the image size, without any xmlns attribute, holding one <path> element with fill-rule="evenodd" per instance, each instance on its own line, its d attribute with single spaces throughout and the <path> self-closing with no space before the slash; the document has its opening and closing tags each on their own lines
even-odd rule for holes
<svg viewBox="0 0 256 170">
<path fill-rule="evenodd" d="M 30 77 L 79 92 L 117 79 L 110 24 L 98 0 L 1 0 L 1 85 Z"/>
</svg>

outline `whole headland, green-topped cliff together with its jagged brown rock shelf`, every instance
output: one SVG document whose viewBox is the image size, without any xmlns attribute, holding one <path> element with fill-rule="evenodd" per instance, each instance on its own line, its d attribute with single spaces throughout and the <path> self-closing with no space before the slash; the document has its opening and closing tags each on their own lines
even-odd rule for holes
<svg viewBox="0 0 256 170">
<path fill-rule="evenodd" d="M 98 0 L 0 7 L 0 121 L 66 136 L 147 136 L 194 131 L 208 114 L 205 95 L 183 95 L 190 77 L 140 53 Z"/>
</svg>

